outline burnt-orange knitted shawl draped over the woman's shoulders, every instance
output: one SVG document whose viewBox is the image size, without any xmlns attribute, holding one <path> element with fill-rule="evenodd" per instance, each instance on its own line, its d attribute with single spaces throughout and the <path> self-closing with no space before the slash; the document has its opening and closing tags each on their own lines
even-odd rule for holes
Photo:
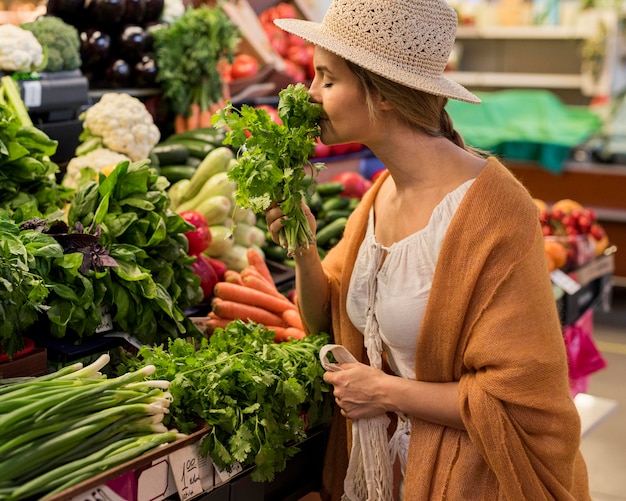
<svg viewBox="0 0 626 501">
<path fill-rule="evenodd" d="M 334 341 L 366 362 L 346 312 L 367 216 L 388 174 L 324 260 Z M 588 500 L 580 420 L 537 208 L 489 158 L 450 223 L 417 344 L 420 381 L 459 381 L 467 431 L 412 419 L 405 500 Z M 322 496 L 339 500 L 350 422 L 335 413 Z M 380 500 L 386 501 L 386 500 Z"/>
</svg>

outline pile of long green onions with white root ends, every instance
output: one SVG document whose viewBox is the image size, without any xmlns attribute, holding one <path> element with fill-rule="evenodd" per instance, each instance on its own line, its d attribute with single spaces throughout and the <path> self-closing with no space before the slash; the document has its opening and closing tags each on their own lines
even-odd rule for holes
<svg viewBox="0 0 626 501">
<path fill-rule="evenodd" d="M 181 437 L 163 424 L 169 381 L 149 365 L 107 378 L 108 362 L 0 380 L 0 499 L 45 498 Z"/>
</svg>

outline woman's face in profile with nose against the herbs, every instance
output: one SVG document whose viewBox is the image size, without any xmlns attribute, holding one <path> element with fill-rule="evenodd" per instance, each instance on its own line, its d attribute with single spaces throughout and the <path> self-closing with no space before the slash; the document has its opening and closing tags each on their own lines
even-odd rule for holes
<svg viewBox="0 0 626 501">
<path fill-rule="evenodd" d="M 367 144 L 375 128 L 357 76 L 342 58 L 320 47 L 315 48 L 314 63 L 310 94 L 324 109 L 320 120 L 322 142 Z"/>
</svg>

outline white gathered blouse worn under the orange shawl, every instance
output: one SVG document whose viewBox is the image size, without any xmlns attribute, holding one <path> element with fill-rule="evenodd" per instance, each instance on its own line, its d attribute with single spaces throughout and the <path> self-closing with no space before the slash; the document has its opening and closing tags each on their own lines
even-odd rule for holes
<svg viewBox="0 0 626 501">
<path fill-rule="evenodd" d="M 417 335 L 439 251 L 450 221 L 473 181 L 448 193 L 425 228 L 389 247 L 376 241 L 373 207 L 370 210 L 346 306 L 350 320 L 365 336 L 374 367 L 380 368 L 384 350 L 397 375 L 415 379 Z"/>
</svg>

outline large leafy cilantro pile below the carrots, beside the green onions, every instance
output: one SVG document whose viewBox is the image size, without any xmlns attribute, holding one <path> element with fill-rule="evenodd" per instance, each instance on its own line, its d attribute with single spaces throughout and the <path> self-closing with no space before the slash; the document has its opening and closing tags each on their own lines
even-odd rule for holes
<svg viewBox="0 0 626 501">
<path fill-rule="evenodd" d="M 144 346 L 118 372 L 149 364 L 154 379 L 171 382 L 164 423 L 191 433 L 210 431 L 200 453 L 221 469 L 253 466 L 251 478 L 271 481 L 298 452 L 308 427 L 329 422 L 332 393 L 318 353 L 328 335 L 276 343 L 262 324 L 234 320 L 210 338 L 178 338 Z"/>
</svg>

